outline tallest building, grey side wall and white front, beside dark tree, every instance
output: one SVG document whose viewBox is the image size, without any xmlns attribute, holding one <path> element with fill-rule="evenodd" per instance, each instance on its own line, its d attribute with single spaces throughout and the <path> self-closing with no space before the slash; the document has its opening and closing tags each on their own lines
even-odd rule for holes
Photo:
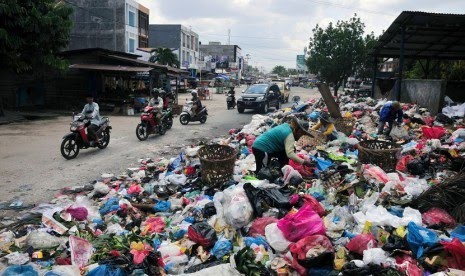
<svg viewBox="0 0 465 276">
<path fill-rule="evenodd" d="M 134 0 L 67 0 L 74 12 L 68 50 L 103 48 L 145 54 L 149 9 Z"/>
</svg>

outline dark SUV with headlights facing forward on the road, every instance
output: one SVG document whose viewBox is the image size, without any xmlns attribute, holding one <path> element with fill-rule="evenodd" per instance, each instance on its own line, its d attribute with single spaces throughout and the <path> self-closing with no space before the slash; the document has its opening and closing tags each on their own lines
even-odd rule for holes
<svg viewBox="0 0 465 276">
<path fill-rule="evenodd" d="M 237 99 L 237 111 L 243 113 L 245 109 L 255 109 L 266 113 L 270 107 L 280 109 L 281 99 L 281 92 L 276 84 L 254 84 Z"/>
</svg>

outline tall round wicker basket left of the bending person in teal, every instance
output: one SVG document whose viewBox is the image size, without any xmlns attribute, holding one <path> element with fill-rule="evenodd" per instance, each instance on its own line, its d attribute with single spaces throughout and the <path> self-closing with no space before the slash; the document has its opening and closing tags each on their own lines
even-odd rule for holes
<svg viewBox="0 0 465 276">
<path fill-rule="evenodd" d="M 224 184 L 234 173 L 237 152 L 229 146 L 207 145 L 199 149 L 202 180 L 210 187 Z"/>
</svg>

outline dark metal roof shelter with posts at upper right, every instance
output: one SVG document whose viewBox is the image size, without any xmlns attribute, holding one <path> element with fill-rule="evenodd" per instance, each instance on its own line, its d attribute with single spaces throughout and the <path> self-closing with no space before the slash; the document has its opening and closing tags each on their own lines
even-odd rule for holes
<svg viewBox="0 0 465 276">
<path fill-rule="evenodd" d="M 399 59 L 396 87 L 399 98 L 405 58 L 465 60 L 465 14 L 403 11 L 381 35 L 370 54 L 375 65 L 378 58 Z M 373 92 L 374 84 L 373 81 Z"/>
</svg>

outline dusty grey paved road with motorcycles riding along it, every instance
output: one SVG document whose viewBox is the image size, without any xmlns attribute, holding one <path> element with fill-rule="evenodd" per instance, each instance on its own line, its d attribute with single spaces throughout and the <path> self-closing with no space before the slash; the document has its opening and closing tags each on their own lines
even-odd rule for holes
<svg viewBox="0 0 465 276">
<path fill-rule="evenodd" d="M 294 95 L 306 99 L 318 96 L 318 92 L 293 87 L 291 97 Z M 180 103 L 188 96 L 181 94 Z M 170 158 L 183 145 L 194 144 L 202 138 L 226 136 L 229 129 L 247 124 L 254 114 L 227 110 L 222 94 L 213 94 L 212 100 L 203 103 L 210 114 L 206 124 L 195 122 L 183 126 L 175 118 L 173 128 L 166 135 L 150 136 L 144 142 L 135 135 L 138 116 L 111 116 L 113 131 L 108 148 L 82 150 L 74 160 L 65 160 L 59 151 L 71 116 L 0 126 L 0 202 L 13 198 L 25 204 L 48 201 L 63 187 L 85 184 L 106 172 L 119 174 L 135 166 L 139 158 Z"/>
</svg>

